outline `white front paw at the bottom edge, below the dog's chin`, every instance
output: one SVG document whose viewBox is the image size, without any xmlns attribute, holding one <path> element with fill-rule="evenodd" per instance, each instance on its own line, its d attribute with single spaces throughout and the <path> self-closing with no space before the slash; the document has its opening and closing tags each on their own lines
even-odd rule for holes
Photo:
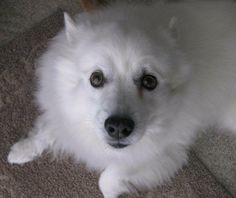
<svg viewBox="0 0 236 198">
<path fill-rule="evenodd" d="M 99 188 L 104 198 L 118 198 L 119 195 L 129 191 L 121 175 L 112 169 L 107 169 L 101 174 Z"/>
</svg>

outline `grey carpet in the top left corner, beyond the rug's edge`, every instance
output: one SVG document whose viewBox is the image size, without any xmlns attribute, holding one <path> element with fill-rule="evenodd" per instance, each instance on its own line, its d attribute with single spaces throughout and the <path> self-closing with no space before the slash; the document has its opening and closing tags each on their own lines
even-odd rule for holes
<svg viewBox="0 0 236 198">
<path fill-rule="evenodd" d="M 1 0 L 0 46 L 59 8 L 70 14 L 80 12 L 79 2 L 80 0 Z"/>
</svg>

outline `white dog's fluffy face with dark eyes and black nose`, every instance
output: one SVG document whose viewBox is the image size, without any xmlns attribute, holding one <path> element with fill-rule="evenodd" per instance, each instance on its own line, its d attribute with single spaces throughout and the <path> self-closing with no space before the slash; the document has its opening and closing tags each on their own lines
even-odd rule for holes
<svg viewBox="0 0 236 198">
<path fill-rule="evenodd" d="M 155 38 L 117 24 L 73 28 L 58 70 L 67 119 L 87 125 L 113 148 L 157 130 L 185 73 L 169 35 Z"/>
</svg>

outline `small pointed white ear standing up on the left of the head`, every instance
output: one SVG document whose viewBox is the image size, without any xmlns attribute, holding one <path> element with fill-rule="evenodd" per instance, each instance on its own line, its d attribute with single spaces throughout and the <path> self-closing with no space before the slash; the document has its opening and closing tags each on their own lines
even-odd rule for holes
<svg viewBox="0 0 236 198">
<path fill-rule="evenodd" d="M 64 12 L 65 34 L 69 42 L 72 42 L 74 35 L 77 32 L 76 24 L 73 19 Z"/>
</svg>

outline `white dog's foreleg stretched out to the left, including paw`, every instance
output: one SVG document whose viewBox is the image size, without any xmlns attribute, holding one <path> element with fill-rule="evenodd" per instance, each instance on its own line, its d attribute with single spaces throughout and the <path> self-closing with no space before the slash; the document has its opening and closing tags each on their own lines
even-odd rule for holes
<svg viewBox="0 0 236 198">
<path fill-rule="evenodd" d="M 43 116 L 36 121 L 35 127 L 28 137 L 15 143 L 8 154 L 8 162 L 11 164 L 24 164 L 53 144 L 51 130 Z"/>
</svg>

